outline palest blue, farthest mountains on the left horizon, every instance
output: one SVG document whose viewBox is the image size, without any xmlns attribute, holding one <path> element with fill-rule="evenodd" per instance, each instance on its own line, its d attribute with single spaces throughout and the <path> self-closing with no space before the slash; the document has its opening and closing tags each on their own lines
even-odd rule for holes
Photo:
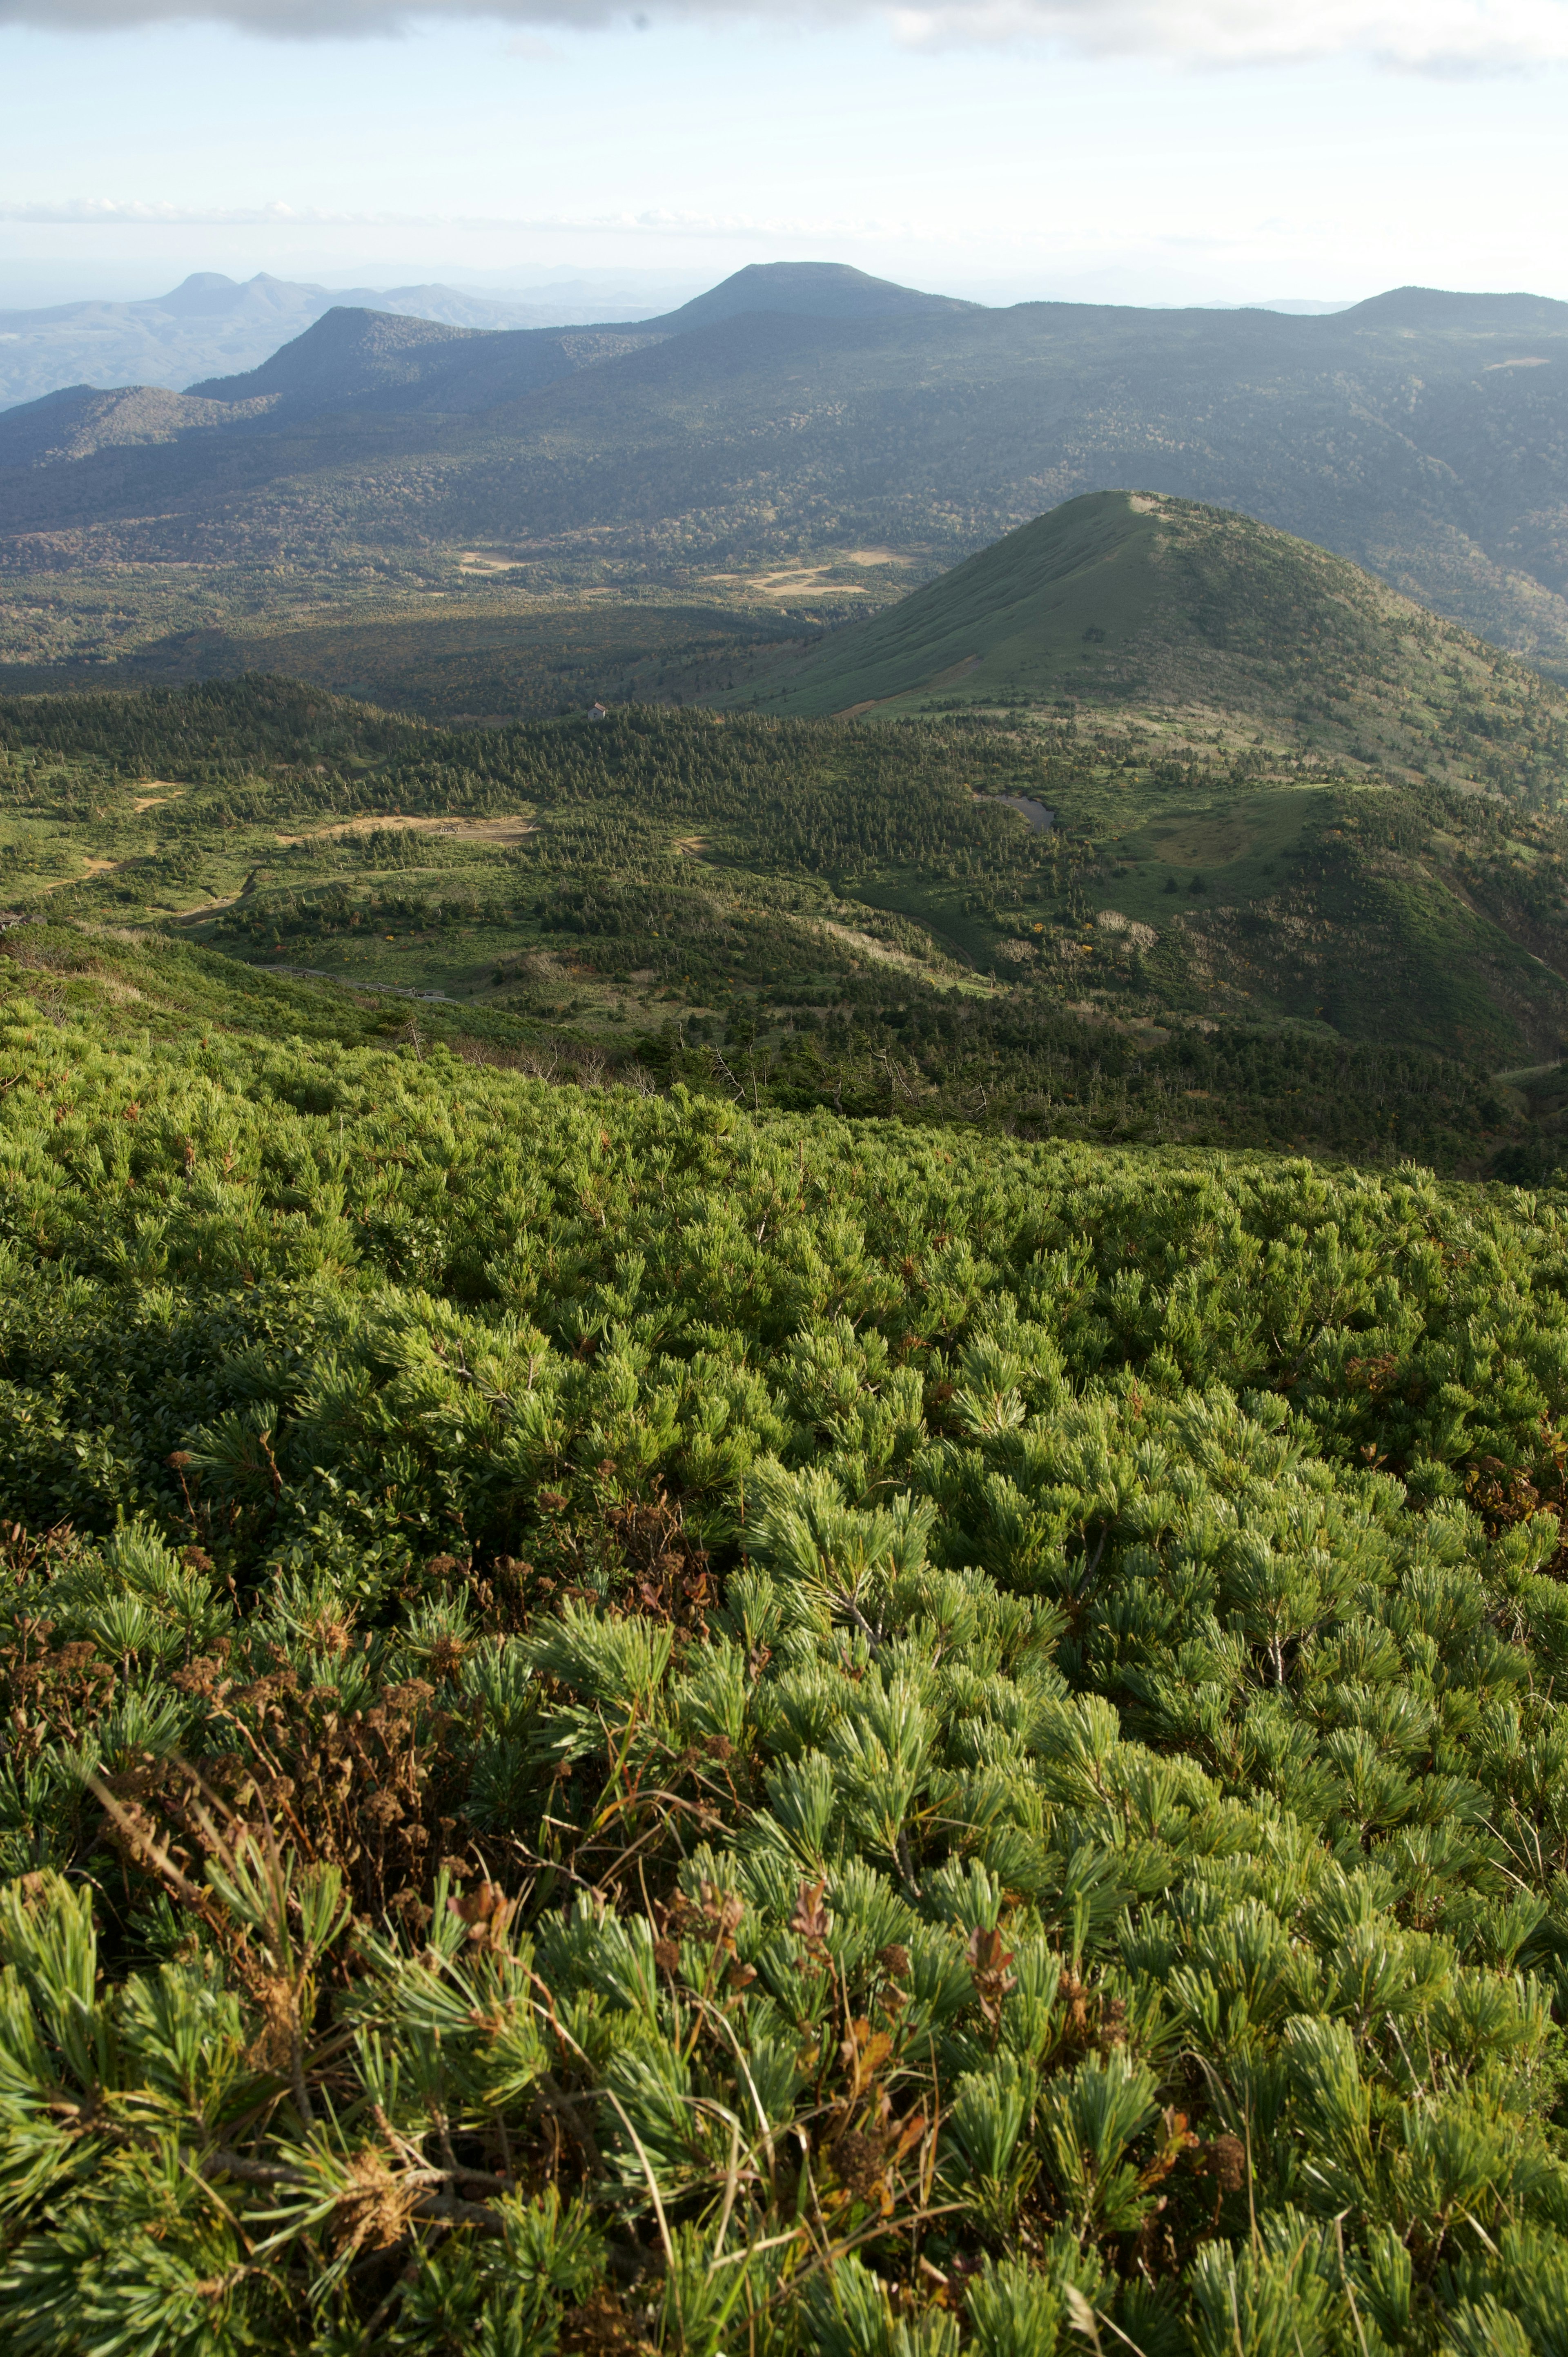
<svg viewBox="0 0 1568 2357">
<path fill-rule="evenodd" d="M 335 306 L 434 318 L 448 328 L 566 328 L 585 318 L 641 318 L 658 302 L 634 285 L 561 280 L 516 295 L 448 285 L 316 288 L 262 271 L 243 285 L 198 271 L 149 302 L 66 302 L 0 309 L 0 410 L 61 384 L 163 384 L 255 368 Z"/>
</svg>

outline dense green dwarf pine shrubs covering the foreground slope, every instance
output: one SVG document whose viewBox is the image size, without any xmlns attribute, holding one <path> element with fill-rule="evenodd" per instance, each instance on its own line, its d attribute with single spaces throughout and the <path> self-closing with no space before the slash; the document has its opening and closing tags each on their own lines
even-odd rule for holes
<svg viewBox="0 0 1568 2357">
<path fill-rule="evenodd" d="M 1559 1200 L 0 1091 L 7 2348 L 1563 2348 Z"/>
</svg>

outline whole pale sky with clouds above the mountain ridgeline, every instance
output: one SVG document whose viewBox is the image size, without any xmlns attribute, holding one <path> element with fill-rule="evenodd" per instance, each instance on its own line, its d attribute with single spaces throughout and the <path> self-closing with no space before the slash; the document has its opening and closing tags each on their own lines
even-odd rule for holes
<svg viewBox="0 0 1568 2357">
<path fill-rule="evenodd" d="M 0 302 L 849 262 L 1568 299 L 1568 0 L 0 0 Z"/>
</svg>

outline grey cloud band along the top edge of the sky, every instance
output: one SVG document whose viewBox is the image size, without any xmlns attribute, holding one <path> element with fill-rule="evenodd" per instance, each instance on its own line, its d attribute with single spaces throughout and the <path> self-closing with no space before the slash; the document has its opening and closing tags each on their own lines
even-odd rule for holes
<svg viewBox="0 0 1568 2357">
<path fill-rule="evenodd" d="M 1568 0 L 0 0 L 0 26 L 116 33 L 205 21 L 278 40 L 401 33 L 441 19 L 613 31 L 691 19 L 884 19 L 910 47 L 1045 40 L 1078 54 L 1264 66 L 1370 57 L 1405 71 L 1568 61 Z"/>
</svg>

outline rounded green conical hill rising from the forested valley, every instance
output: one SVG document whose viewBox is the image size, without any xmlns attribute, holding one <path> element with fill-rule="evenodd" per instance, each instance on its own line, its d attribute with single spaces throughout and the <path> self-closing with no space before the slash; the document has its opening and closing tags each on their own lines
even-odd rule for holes
<svg viewBox="0 0 1568 2357">
<path fill-rule="evenodd" d="M 1502 759 L 1568 794 L 1563 688 L 1306 540 L 1151 493 L 1066 500 L 743 700 L 889 719 L 1082 702 L 1455 783 L 1497 783 Z"/>
</svg>

